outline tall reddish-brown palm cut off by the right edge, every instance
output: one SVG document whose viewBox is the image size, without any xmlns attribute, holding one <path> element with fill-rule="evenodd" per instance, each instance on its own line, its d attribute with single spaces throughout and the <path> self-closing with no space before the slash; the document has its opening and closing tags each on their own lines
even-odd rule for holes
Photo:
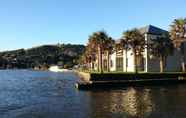
<svg viewBox="0 0 186 118">
<path fill-rule="evenodd" d="M 185 72 L 184 42 L 186 41 L 186 18 L 179 18 L 173 21 L 170 36 L 175 48 L 177 48 L 181 54 L 181 67 L 182 71 Z"/>
</svg>

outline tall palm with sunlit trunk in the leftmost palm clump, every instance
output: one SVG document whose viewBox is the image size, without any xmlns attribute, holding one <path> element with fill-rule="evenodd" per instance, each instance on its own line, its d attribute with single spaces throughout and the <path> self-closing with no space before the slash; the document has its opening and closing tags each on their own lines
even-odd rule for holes
<svg viewBox="0 0 186 118">
<path fill-rule="evenodd" d="M 95 32 L 89 37 L 90 48 L 91 50 L 93 49 L 96 51 L 97 60 L 98 60 L 98 71 L 101 73 L 103 72 L 103 64 L 102 64 L 103 52 L 107 46 L 106 41 L 108 39 L 109 37 L 104 31 Z"/>
</svg>

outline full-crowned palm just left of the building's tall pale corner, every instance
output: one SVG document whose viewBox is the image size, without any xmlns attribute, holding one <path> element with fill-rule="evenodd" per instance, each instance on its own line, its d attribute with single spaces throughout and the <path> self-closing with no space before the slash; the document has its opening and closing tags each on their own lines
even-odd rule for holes
<svg viewBox="0 0 186 118">
<path fill-rule="evenodd" d="M 134 55 L 134 70 L 137 73 L 137 56 L 141 56 L 142 52 L 144 52 L 145 48 L 145 38 L 143 34 L 140 33 L 140 31 L 136 28 L 132 30 L 128 30 L 123 33 L 123 37 L 125 38 L 126 43 L 128 44 L 128 47 L 130 47 L 133 50 Z"/>
</svg>

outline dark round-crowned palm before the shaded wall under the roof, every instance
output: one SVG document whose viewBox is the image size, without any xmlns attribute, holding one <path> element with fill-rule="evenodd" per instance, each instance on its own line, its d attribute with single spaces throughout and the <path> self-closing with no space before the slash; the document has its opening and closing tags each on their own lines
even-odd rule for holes
<svg viewBox="0 0 186 118">
<path fill-rule="evenodd" d="M 164 72 L 166 58 L 173 54 L 174 46 L 169 36 L 164 35 L 152 40 L 149 44 L 150 54 L 160 60 L 160 72 Z"/>
</svg>

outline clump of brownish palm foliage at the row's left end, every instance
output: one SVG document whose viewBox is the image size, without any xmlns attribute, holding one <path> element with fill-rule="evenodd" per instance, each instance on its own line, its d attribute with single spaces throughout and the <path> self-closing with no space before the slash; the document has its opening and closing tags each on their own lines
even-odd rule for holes
<svg viewBox="0 0 186 118">
<path fill-rule="evenodd" d="M 94 32 L 88 39 L 88 44 L 86 46 L 86 50 L 84 55 L 81 58 L 81 63 L 93 63 L 98 61 L 98 71 L 103 71 L 102 58 L 103 54 L 107 53 L 107 57 L 109 58 L 109 54 L 113 51 L 114 40 L 107 35 L 105 31 Z M 109 60 L 109 59 L 108 59 Z M 108 63 L 109 64 L 109 63 Z M 87 65 L 90 68 L 90 65 Z"/>
</svg>

